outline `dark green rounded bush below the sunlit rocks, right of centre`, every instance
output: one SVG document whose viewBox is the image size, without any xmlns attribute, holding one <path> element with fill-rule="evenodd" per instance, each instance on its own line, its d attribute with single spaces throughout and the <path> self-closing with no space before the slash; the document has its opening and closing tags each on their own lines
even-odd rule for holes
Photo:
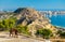
<svg viewBox="0 0 65 42">
<path fill-rule="evenodd" d="M 41 36 L 43 38 L 49 38 L 51 37 L 52 31 L 50 29 L 39 29 L 37 30 L 36 34 Z"/>
</svg>

